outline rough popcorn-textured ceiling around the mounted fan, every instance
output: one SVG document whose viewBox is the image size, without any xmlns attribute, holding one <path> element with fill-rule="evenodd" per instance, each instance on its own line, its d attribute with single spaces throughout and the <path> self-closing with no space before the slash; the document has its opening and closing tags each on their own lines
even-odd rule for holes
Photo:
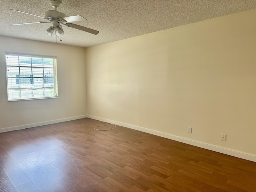
<svg viewBox="0 0 256 192">
<path fill-rule="evenodd" d="M 44 16 L 45 11 L 54 10 L 49 0 L 0 0 L 0 5 L 0 35 L 56 42 L 55 35 L 44 32 L 50 23 L 10 26 L 45 21 L 10 9 Z M 89 47 L 253 8 L 256 0 L 63 0 L 58 11 L 87 18 L 86 22 L 74 23 L 100 33 L 63 26 L 66 36 L 58 43 Z"/>
</svg>

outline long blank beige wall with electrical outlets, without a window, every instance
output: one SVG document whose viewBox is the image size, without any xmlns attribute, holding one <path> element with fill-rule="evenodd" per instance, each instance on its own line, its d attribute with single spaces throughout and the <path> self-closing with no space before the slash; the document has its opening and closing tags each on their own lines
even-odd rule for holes
<svg viewBox="0 0 256 192">
<path fill-rule="evenodd" d="M 88 115 L 256 155 L 256 9 L 87 48 L 86 78 Z"/>
</svg>

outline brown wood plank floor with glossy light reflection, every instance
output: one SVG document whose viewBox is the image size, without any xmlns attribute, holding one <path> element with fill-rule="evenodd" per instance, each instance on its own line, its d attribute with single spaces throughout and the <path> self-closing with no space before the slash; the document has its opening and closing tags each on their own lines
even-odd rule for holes
<svg viewBox="0 0 256 192">
<path fill-rule="evenodd" d="M 101 124 L 1 133 L 0 192 L 256 191 L 256 162 L 121 126 L 93 129 Z"/>
</svg>

